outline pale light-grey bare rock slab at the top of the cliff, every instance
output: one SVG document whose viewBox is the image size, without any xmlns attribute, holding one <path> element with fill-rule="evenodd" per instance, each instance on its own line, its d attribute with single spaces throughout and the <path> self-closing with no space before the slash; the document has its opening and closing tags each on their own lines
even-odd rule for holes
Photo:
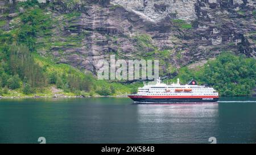
<svg viewBox="0 0 256 155">
<path fill-rule="evenodd" d="M 112 0 L 110 3 L 121 5 L 129 11 L 139 14 L 141 18 L 152 22 L 160 22 L 166 16 L 172 15 L 189 21 L 196 19 L 195 4 L 197 0 Z"/>
</svg>

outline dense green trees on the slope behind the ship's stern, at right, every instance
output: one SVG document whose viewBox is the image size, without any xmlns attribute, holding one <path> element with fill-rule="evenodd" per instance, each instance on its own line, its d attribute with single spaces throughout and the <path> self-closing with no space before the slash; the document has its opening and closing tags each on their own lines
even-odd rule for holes
<svg viewBox="0 0 256 155">
<path fill-rule="evenodd" d="M 224 52 L 216 60 L 208 61 L 203 68 L 181 68 L 176 78 L 183 83 L 194 78 L 199 84 L 213 86 L 222 96 L 246 96 L 251 94 L 256 84 L 256 61 Z"/>
</svg>

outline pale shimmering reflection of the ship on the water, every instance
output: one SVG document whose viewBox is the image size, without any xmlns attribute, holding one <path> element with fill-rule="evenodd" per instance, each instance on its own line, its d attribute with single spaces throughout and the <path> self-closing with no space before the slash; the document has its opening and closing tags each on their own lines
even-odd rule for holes
<svg viewBox="0 0 256 155">
<path fill-rule="evenodd" d="M 218 137 L 218 103 L 138 104 L 141 138 L 158 143 L 208 143 Z"/>
</svg>

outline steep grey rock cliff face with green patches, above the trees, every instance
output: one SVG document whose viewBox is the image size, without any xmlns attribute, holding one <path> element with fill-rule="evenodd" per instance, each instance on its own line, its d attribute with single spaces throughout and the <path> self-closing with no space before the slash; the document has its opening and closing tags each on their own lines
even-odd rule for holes
<svg viewBox="0 0 256 155">
<path fill-rule="evenodd" d="M 255 1 L 76 2 L 51 2 L 47 10 L 55 23 L 49 40 L 38 38 L 46 44 L 38 49 L 41 55 L 93 73 L 98 60 L 110 55 L 157 58 L 161 76 L 223 51 L 256 56 Z"/>
</svg>

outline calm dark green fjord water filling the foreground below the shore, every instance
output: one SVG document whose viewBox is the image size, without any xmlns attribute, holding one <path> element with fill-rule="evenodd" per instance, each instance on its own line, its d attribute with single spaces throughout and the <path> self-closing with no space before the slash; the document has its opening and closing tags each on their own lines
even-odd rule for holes
<svg viewBox="0 0 256 155">
<path fill-rule="evenodd" d="M 256 143 L 256 98 L 131 104 L 128 98 L 1 99 L 0 143 Z"/>
</svg>

